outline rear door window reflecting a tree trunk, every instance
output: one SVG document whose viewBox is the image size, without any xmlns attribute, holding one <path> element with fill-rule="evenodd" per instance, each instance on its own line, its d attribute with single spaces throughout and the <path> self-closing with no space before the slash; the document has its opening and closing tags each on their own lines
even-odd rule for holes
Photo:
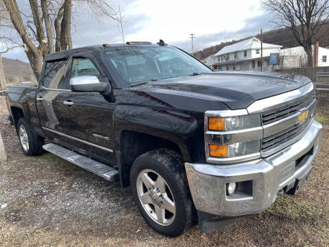
<svg viewBox="0 0 329 247">
<path fill-rule="evenodd" d="M 43 84 L 48 89 L 65 89 L 66 60 L 46 62 Z"/>
</svg>

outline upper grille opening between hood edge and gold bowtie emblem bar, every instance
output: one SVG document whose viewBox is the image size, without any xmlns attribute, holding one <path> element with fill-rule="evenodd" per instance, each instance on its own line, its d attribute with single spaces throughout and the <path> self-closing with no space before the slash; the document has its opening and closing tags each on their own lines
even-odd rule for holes
<svg viewBox="0 0 329 247">
<path fill-rule="evenodd" d="M 308 95 L 301 97 L 300 99 L 296 99 L 289 104 L 286 104 L 282 107 L 267 110 L 266 112 L 262 113 L 262 122 L 263 125 L 271 124 L 273 122 L 279 121 L 280 119 L 284 119 L 291 115 L 294 115 L 303 108 L 306 108 L 310 104 L 312 104 L 313 100 L 315 99 L 315 92 L 310 92 Z"/>
</svg>

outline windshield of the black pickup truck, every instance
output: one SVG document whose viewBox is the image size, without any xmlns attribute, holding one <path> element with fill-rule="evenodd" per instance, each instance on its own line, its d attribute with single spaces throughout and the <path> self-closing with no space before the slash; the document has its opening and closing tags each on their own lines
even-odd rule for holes
<svg viewBox="0 0 329 247">
<path fill-rule="evenodd" d="M 107 51 L 106 55 L 129 84 L 211 71 L 174 47 L 121 47 Z"/>
</svg>

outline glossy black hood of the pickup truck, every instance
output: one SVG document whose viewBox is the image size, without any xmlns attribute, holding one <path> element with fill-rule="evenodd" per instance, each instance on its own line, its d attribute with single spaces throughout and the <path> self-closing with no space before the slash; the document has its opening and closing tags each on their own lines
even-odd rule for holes
<svg viewBox="0 0 329 247">
<path fill-rule="evenodd" d="M 247 108 L 258 99 L 298 89 L 309 82 L 309 78 L 287 73 L 211 72 L 149 82 L 134 86 L 132 90 L 143 91 L 166 102 L 169 95 L 208 99 L 234 110 Z"/>
</svg>

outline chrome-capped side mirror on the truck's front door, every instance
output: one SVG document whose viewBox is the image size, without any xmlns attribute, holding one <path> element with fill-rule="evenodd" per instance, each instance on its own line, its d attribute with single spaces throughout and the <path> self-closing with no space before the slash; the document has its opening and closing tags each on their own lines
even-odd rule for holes
<svg viewBox="0 0 329 247">
<path fill-rule="evenodd" d="M 70 87 L 75 92 L 99 92 L 110 91 L 110 83 L 99 82 L 95 75 L 82 75 L 75 78 L 71 78 Z"/>
</svg>

